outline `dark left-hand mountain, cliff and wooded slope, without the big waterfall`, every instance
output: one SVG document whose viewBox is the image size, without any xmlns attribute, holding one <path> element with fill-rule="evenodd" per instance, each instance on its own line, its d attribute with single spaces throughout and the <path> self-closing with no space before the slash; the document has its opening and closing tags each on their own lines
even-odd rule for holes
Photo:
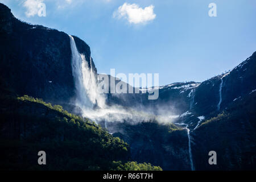
<svg viewBox="0 0 256 182">
<path fill-rule="evenodd" d="M 123 140 L 52 105 L 77 109 L 71 103 L 76 88 L 67 34 L 20 22 L 2 3 L 0 23 L 0 170 L 162 170 L 130 162 Z M 89 46 L 73 39 L 97 73 Z M 46 166 L 38 165 L 42 150 Z"/>
</svg>

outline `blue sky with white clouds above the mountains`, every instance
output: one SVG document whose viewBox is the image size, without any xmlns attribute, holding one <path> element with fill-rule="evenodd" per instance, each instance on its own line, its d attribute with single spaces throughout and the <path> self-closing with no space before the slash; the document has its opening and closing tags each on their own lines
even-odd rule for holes
<svg viewBox="0 0 256 182">
<path fill-rule="evenodd" d="M 255 0 L 0 2 L 20 20 L 84 40 L 98 73 L 159 73 L 159 85 L 207 80 L 256 51 Z"/>
</svg>

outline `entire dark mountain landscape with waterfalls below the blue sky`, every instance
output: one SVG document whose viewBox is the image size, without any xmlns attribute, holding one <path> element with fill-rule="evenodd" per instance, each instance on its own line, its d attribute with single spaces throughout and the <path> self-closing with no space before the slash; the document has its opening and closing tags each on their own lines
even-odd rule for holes
<svg viewBox="0 0 256 182">
<path fill-rule="evenodd" d="M 58 154 L 47 169 L 127 169 L 130 160 L 150 163 L 141 169 L 255 169 L 256 52 L 201 83 L 102 95 L 88 44 L 21 22 L 1 3 L 0 15 L 1 168 L 38 169 L 28 156 L 43 146 Z M 159 89 L 158 100 L 148 100 L 148 89 Z"/>
</svg>

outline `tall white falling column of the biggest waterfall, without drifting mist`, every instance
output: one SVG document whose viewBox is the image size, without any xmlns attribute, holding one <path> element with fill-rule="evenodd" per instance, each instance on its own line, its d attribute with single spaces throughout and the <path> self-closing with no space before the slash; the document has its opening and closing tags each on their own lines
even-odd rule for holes
<svg viewBox="0 0 256 182">
<path fill-rule="evenodd" d="M 85 55 L 77 51 L 75 40 L 69 35 L 72 51 L 72 74 L 76 87 L 76 104 L 83 110 L 93 109 L 95 106 L 105 106 L 105 96 L 99 92 L 98 76 L 93 72 L 92 59 L 90 68 Z"/>
</svg>

